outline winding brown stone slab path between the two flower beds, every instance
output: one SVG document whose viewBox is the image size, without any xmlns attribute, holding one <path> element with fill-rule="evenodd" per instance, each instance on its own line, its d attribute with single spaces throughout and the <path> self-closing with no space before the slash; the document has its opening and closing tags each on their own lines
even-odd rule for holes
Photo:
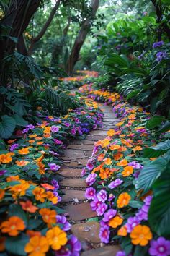
<svg viewBox="0 0 170 256">
<path fill-rule="evenodd" d="M 120 247 L 104 246 L 99 239 L 99 223 L 97 215 L 91 210 L 89 202 L 84 197 L 86 182 L 81 178 L 81 171 L 91 156 L 94 142 L 103 140 L 107 130 L 113 129 L 117 123 L 111 106 L 101 106 L 104 112 L 103 127 L 92 131 L 86 140 L 74 140 L 64 151 L 60 182 L 63 195 L 63 208 L 71 223 L 71 232 L 81 241 L 82 256 L 115 256 Z M 96 219 L 95 219 L 96 218 Z"/>
</svg>

